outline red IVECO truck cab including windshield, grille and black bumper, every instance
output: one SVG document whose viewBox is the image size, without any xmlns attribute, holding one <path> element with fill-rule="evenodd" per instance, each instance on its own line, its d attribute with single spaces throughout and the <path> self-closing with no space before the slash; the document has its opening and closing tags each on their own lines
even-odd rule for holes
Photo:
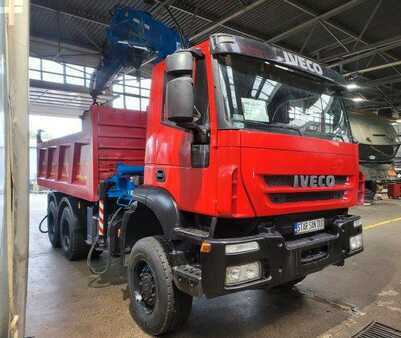
<svg viewBox="0 0 401 338">
<path fill-rule="evenodd" d="M 293 285 L 363 250 L 348 214 L 362 183 L 338 74 L 219 34 L 168 56 L 152 79 L 134 198 L 173 244 L 180 292 Z"/>
</svg>

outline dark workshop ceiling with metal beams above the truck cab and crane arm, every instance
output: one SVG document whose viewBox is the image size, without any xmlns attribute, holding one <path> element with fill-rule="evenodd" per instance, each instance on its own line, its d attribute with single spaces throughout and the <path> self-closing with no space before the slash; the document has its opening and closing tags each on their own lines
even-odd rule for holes
<svg viewBox="0 0 401 338">
<path fill-rule="evenodd" d="M 168 7 L 194 44 L 226 32 L 318 60 L 363 86 L 360 108 L 401 105 L 399 0 L 31 0 L 31 55 L 95 66 L 115 5 L 174 27 Z"/>
</svg>

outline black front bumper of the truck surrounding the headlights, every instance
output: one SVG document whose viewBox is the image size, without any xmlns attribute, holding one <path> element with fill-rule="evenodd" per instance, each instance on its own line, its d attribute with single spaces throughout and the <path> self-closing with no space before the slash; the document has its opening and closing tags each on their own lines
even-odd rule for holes
<svg viewBox="0 0 401 338">
<path fill-rule="evenodd" d="M 271 288 L 319 271 L 329 265 L 342 265 L 344 259 L 363 248 L 351 251 L 350 237 L 362 233 L 362 226 L 354 227 L 358 216 L 338 217 L 327 232 L 286 241 L 276 231 L 235 239 L 208 239 L 210 253 L 200 259 L 201 292 L 209 298 L 247 289 Z M 240 254 L 226 254 L 227 244 L 256 241 L 259 250 Z M 261 262 L 262 278 L 235 286 L 226 286 L 226 268 Z"/>
</svg>

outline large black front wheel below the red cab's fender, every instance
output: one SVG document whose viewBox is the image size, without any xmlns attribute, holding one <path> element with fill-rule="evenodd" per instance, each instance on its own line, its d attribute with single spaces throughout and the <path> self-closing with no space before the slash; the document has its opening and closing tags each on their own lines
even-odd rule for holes
<svg viewBox="0 0 401 338">
<path fill-rule="evenodd" d="M 187 321 L 192 296 L 178 290 L 161 237 L 146 237 L 132 248 L 128 263 L 131 315 L 147 333 L 158 336 Z"/>
</svg>

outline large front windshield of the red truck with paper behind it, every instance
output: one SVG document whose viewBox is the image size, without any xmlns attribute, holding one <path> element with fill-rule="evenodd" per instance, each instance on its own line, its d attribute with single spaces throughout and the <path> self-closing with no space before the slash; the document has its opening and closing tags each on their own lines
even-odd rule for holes
<svg viewBox="0 0 401 338">
<path fill-rule="evenodd" d="M 350 142 L 334 83 L 241 55 L 220 56 L 219 63 L 226 119 L 233 128 Z"/>
</svg>

